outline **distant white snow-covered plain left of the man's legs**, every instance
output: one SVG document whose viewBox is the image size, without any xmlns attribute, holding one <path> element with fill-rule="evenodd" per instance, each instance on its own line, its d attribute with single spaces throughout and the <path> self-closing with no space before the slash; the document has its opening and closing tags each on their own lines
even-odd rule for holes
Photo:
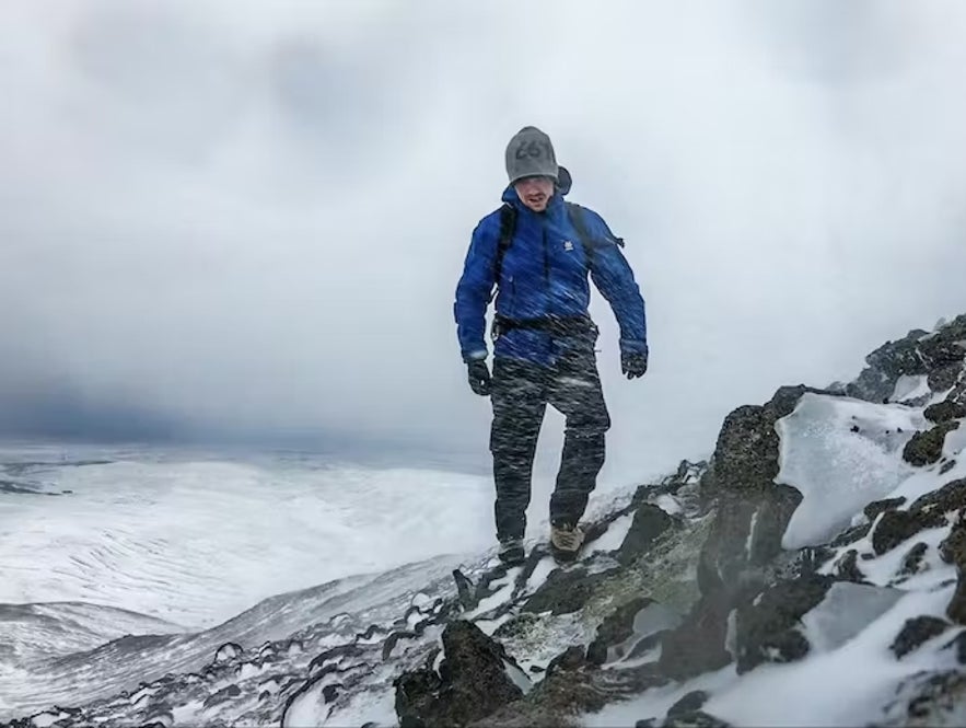
<svg viewBox="0 0 966 728">
<path fill-rule="evenodd" d="M 272 594 L 493 545 L 486 477 L 152 458 L 37 467 L 73 493 L 4 494 L 0 603 L 89 602 L 206 627 Z"/>
</svg>

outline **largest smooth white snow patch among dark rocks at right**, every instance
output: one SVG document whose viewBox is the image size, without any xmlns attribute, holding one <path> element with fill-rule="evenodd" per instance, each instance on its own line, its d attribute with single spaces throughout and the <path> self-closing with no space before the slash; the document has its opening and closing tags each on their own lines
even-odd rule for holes
<svg viewBox="0 0 966 728">
<path fill-rule="evenodd" d="M 824 543 L 866 504 L 888 496 L 913 473 L 898 454 L 926 427 L 919 409 L 805 393 L 776 423 L 781 438 L 776 483 L 803 496 L 782 546 Z"/>
</svg>

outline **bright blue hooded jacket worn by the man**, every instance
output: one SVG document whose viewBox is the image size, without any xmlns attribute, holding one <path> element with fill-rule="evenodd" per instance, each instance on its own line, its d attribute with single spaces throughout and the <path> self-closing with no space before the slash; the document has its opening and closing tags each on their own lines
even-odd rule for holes
<svg viewBox="0 0 966 728">
<path fill-rule="evenodd" d="M 647 353 L 644 300 L 624 254 L 621 241 L 596 212 L 583 209 L 584 226 L 593 245 L 587 255 L 570 222 L 563 195 L 558 190 L 545 212 L 534 212 L 512 186 L 503 201 L 516 208 L 516 227 L 501 267 L 496 298 L 497 314 L 508 319 L 587 315 L 591 290 L 587 274 L 610 304 L 620 326 L 622 353 Z M 479 221 L 473 231 L 463 275 L 453 307 L 456 335 L 464 361 L 487 356 L 486 313 L 496 275 L 500 238 L 500 210 Z M 589 265 L 590 261 L 590 265 Z M 546 331 L 512 328 L 496 342 L 493 355 L 550 365 L 567 342 Z"/>
</svg>

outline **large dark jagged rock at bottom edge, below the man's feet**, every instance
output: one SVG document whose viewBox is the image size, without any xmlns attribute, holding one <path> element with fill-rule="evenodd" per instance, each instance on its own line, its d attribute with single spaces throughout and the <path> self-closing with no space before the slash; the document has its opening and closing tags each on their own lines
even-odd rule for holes
<svg viewBox="0 0 966 728">
<path fill-rule="evenodd" d="M 393 682 L 401 728 L 466 726 L 523 696 L 507 672 L 512 662 L 502 645 L 472 622 L 451 622 L 442 640 L 439 673 L 424 667 Z"/>
</svg>

